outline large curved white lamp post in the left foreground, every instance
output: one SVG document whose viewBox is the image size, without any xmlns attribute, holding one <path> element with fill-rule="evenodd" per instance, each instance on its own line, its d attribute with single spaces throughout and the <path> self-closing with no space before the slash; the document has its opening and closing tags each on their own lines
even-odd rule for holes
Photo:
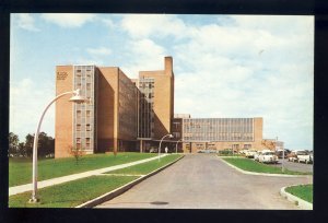
<svg viewBox="0 0 328 223">
<path fill-rule="evenodd" d="M 38 199 L 37 199 L 37 196 L 36 196 L 36 192 L 37 192 L 37 143 L 38 143 L 38 133 L 39 133 L 39 129 L 40 129 L 40 125 L 43 122 L 43 119 L 44 119 L 44 116 L 46 114 L 46 111 L 48 110 L 48 108 L 50 107 L 50 105 L 56 102 L 57 99 L 59 99 L 60 97 L 65 96 L 65 95 L 68 95 L 68 94 L 73 94 L 74 96 L 72 96 L 69 101 L 70 102 L 73 102 L 73 103 L 84 103 L 86 102 L 87 99 L 84 97 L 84 96 L 81 96 L 81 90 L 78 89 L 75 91 L 70 91 L 70 92 L 65 92 L 62 94 L 59 94 L 57 95 L 48 105 L 47 107 L 45 108 L 39 121 L 38 121 L 38 125 L 37 125 L 37 128 L 36 128 L 36 131 L 35 131 L 35 134 L 34 134 L 34 142 L 33 142 L 33 168 L 32 168 L 32 175 L 33 175 L 33 190 L 32 190 L 32 197 L 30 199 L 30 202 L 31 203 L 35 203 L 35 202 L 38 202 Z"/>
</svg>

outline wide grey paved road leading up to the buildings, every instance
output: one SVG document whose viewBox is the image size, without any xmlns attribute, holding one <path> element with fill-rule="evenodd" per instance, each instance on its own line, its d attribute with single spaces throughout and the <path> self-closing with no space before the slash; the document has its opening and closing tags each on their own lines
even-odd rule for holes
<svg viewBox="0 0 328 223">
<path fill-rule="evenodd" d="M 280 188 L 312 178 L 245 175 L 213 154 L 183 160 L 96 208 L 298 209 Z"/>
</svg>

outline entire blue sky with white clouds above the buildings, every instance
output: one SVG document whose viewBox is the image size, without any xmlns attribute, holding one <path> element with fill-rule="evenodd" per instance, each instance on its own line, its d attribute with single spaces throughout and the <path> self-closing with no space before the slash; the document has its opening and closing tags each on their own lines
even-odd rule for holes
<svg viewBox="0 0 328 223">
<path fill-rule="evenodd" d="M 58 64 L 129 78 L 173 57 L 175 114 L 263 118 L 263 138 L 313 150 L 314 16 L 13 13 L 10 131 L 25 140 L 56 96 Z M 55 137 L 55 105 L 40 131 Z"/>
</svg>

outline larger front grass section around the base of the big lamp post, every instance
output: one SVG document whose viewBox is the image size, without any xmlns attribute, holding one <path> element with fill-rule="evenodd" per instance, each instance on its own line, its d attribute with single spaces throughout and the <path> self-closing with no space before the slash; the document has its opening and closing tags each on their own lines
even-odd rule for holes
<svg viewBox="0 0 328 223">
<path fill-rule="evenodd" d="M 133 176 L 92 176 L 38 190 L 39 203 L 28 203 L 31 191 L 9 197 L 9 208 L 73 208 L 114 190 Z"/>
</svg>

